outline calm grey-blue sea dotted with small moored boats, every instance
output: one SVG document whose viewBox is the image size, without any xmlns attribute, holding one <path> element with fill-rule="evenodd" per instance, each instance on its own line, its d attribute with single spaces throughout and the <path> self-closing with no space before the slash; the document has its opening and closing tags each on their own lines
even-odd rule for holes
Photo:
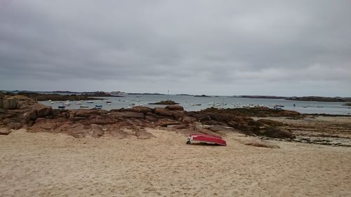
<svg viewBox="0 0 351 197">
<path fill-rule="evenodd" d="M 81 102 L 81 105 L 86 105 L 91 109 L 95 107 L 95 104 L 102 104 L 102 109 L 121 109 L 133 107 L 135 104 L 143 104 L 146 107 L 161 107 L 160 105 L 148 104 L 151 102 L 159 102 L 161 100 L 167 100 L 167 95 L 126 95 L 126 97 L 99 97 L 101 100 L 93 100 L 93 103 L 87 101 Z M 102 100 L 104 99 L 104 100 Z M 291 101 L 283 99 L 252 99 L 252 98 L 241 98 L 241 97 L 193 97 L 187 95 L 169 95 L 169 100 L 178 102 L 184 107 L 186 111 L 199 111 L 208 107 L 218 108 L 235 108 L 243 107 L 245 105 L 264 105 L 265 107 L 272 107 L 274 104 L 284 106 L 282 109 L 288 109 L 298 111 L 304 114 L 343 114 L 350 115 L 351 107 L 343 106 L 343 102 L 312 102 L 312 101 Z M 106 101 L 110 101 L 111 104 L 107 105 Z M 78 101 L 70 101 L 70 106 L 65 109 L 79 109 L 81 105 L 76 104 Z M 58 109 L 62 102 L 54 102 L 51 104 L 48 101 L 41 102 L 42 104 Z M 201 105 L 194 105 L 201 104 Z M 293 106 L 295 104 L 295 107 Z"/>
</svg>

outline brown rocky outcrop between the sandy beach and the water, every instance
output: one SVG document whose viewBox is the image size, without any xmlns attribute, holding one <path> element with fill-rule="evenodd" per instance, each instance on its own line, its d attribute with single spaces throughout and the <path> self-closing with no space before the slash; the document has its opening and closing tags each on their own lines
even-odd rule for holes
<svg viewBox="0 0 351 197">
<path fill-rule="evenodd" d="M 65 133 L 79 138 L 102 135 L 124 138 L 135 135 L 144 139 L 153 137 L 145 128 L 163 128 L 184 134 L 211 135 L 221 135 L 220 130 L 232 130 L 245 135 L 298 141 L 301 139 L 296 137 L 296 134 L 299 136 L 301 134 L 296 132 L 298 128 L 285 121 L 302 118 L 305 118 L 305 115 L 296 111 L 273 110 L 267 107 L 184 111 L 183 107 L 171 104 L 166 107 L 133 107 L 110 111 L 60 110 L 19 95 L 14 97 L 1 95 L 0 99 L 0 134 L 3 135 L 11 133 L 12 130 L 25 128 L 28 132 Z M 310 143 L 311 140 L 306 142 Z M 340 144 L 331 143 L 331 145 Z"/>
</svg>

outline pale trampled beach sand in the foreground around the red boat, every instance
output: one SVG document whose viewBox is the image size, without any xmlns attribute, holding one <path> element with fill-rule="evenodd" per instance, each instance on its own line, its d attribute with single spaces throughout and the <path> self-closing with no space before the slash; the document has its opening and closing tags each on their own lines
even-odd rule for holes
<svg viewBox="0 0 351 197">
<path fill-rule="evenodd" d="M 271 142 L 229 133 L 227 147 L 150 140 L 0 136 L 0 196 L 351 196 L 351 148 Z"/>
</svg>

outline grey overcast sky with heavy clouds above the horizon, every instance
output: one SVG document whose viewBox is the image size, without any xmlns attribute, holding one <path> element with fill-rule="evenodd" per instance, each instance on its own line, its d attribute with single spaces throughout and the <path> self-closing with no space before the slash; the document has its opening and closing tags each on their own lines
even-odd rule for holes
<svg viewBox="0 0 351 197">
<path fill-rule="evenodd" d="M 0 0 L 0 90 L 351 96 L 351 1 Z"/>
</svg>

